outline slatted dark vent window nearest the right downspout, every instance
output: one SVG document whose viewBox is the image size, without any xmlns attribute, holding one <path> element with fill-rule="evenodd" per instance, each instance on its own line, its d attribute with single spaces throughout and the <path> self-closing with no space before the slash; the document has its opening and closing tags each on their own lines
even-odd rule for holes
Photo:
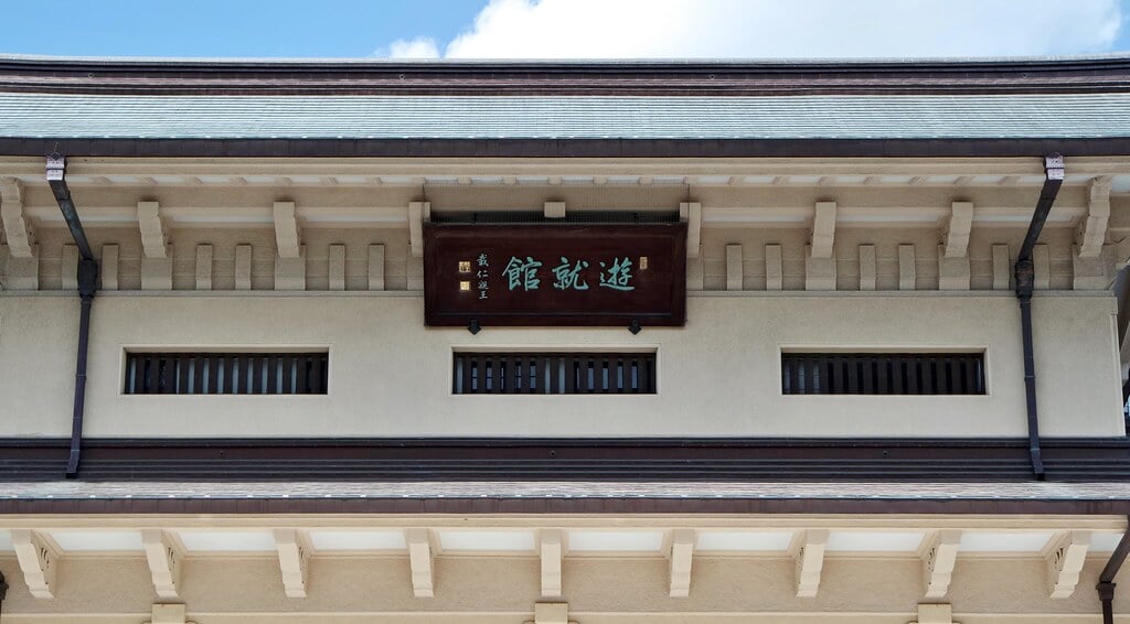
<svg viewBox="0 0 1130 624">
<path fill-rule="evenodd" d="M 782 353 L 784 394 L 985 394 L 984 353 Z"/>
</svg>

